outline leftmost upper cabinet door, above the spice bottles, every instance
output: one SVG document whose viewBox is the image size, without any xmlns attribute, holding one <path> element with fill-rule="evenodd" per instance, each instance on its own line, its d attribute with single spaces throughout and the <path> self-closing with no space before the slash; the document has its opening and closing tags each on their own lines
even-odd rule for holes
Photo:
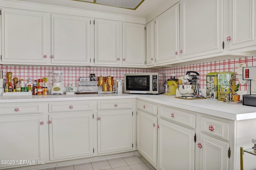
<svg viewBox="0 0 256 170">
<path fill-rule="evenodd" d="M 2 62 L 50 62 L 50 15 L 43 12 L 2 9 Z"/>
</svg>

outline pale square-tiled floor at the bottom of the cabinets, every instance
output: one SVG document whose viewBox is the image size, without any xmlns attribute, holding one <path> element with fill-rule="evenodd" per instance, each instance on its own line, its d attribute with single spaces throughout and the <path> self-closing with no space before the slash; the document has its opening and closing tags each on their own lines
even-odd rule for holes
<svg viewBox="0 0 256 170">
<path fill-rule="evenodd" d="M 151 170 L 152 168 L 149 168 L 145 162 L 140 156 L 129 156 L 46 170 Z"/>
</svg>

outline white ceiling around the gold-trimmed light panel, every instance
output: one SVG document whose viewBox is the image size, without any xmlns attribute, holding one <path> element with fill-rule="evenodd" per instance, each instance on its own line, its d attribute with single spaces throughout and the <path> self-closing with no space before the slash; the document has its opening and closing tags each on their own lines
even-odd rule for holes
<svg viewBox="0 0 256 170">
<path fill-rule="evenodd" d="M 163 4 L 169 3 L 172 1 L 177 1 L 177 0 L 144 0 L 142 4 L 140 4 L 140 6 L 136 8 L 136 10 L 118 8 L 114 6 L 101 5 L 101 4 L 95 4 L 95 3 L 86 3 L 86 2 L 77 1 L 77 0 L 18 0 L 18 1 L 64 6 L 64 7 L 70 7 L 70 8 L 78 8 L 78 9 L 84 9 L 84 10 L 92 10 L 92 11 L 98 11 L 98 12 L 107 12 L 112 14 L 121 14 L 121 15 L 127 15 L 127 16 L 136 16 L 136 17 L 146 18 L 154 10 L 156 10 Z M 87 0 L 87 1 L 92 1 L 92 0 Z M 112 1 L 120 1 L 120 0 L 112 0 Z M 128 1 L 141 2 L 142 0 L 128 0 Z M 101 2 L 104 2 L 104 0 L 101 0 Z"/>
</svg>

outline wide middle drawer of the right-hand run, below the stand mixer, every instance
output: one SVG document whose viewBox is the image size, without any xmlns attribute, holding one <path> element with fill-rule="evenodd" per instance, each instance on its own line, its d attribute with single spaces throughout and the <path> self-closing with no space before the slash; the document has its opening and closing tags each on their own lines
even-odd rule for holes
<svg viewBox="0 0 256 170">
<path fill-rule="evenodd" d="M 187 113 L 164 106 L 159 106 L 159 113 L 163 118 L 196 128 L 196 115 L 192 113 Z"/>
</svg>

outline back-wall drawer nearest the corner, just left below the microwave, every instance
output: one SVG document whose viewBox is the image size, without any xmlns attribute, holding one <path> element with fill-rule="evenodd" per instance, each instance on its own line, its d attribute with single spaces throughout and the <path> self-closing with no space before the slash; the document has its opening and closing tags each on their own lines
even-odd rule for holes
<svg viewBox="0 0 256 170">
<path fill-rule="evenodd" d="M 131 109 L 132 100 L 109 100 L 99 101 L 98 110 L 102 109 Z"/>
</svg>

